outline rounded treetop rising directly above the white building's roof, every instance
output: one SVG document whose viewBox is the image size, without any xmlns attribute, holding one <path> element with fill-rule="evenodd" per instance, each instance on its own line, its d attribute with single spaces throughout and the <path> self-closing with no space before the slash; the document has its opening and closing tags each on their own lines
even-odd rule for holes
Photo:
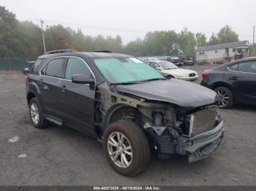
<svg viewBox="0 0 256 191">
<path fill-rule="evenodd" d="M 238 34 L 232 30 L 230 26 L 224 26 L 219 30 L 217 34 L 219 43 L 237 42 Z"/>
</svg>

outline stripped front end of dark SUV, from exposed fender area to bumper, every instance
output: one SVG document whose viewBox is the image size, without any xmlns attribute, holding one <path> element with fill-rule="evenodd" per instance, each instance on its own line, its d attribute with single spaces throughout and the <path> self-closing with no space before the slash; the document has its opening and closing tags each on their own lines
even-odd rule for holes
<svg viewBox="0 0 256 191">
<path fill-rule="evenodd" d="M 116 87 L 110 92 L 107 87 L 100 85 L 97 96 L 97 114 L 102 115 L 95 117 L 99 118 L 97 121 L 102 127 L 99 135 L 113 122 L 132 120 L 146 133 L 159 157 L 187 155 L 189 163 L 207 157 L 219 147 L 224 120 L 218 114 L 214 98 L 209 96 L 211 99 L 205 101 L 208 102 L 205 106 L 185 107 L 167 101 L 147 100 L 118 91 Z"/>
</svg>

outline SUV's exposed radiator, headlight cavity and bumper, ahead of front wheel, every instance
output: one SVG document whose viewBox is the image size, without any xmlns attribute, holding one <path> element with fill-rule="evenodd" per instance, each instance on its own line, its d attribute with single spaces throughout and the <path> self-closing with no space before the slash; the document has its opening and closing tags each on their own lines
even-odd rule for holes
<svg viewBox="0 0 256 191">
<path fill-rule="evenodd" d="M 153 120 L 143 126 L 154 138 L 159 157 L 187 155 L 193 163 L 207 157 L 219 147 L 223 137 L 224 120 L 217 106 L 205 106 L 192 111 L 175 109 L 175 119 L 166 112 L 152 112 Z"/>
</svg>

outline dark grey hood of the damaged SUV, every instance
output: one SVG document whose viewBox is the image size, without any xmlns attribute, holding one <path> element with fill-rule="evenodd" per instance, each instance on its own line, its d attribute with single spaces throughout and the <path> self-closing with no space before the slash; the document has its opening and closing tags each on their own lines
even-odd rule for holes
<svg viewBox="0 0 256 191">
<path fill-rule="evenodd" d="M 129 93 L 151 101 L 165 101 L 182 107 L 214 104 L 217 93 L 180 79 L 157 80 L 135 85 L 116 85 L 119 93 Z"/>
</svg>

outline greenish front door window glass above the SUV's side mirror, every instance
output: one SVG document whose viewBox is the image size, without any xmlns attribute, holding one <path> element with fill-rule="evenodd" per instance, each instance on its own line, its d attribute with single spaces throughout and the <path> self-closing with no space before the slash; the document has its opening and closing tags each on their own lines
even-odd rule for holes
<svg viewBox="0 0 256 191">
<path fill-rule="evenodd" d="M 75 74 L 91 75 L 91 71 L 84 61 L 78 58 L 69 58 L 65 71 L 65 79 L 72 79 L 72 76 Z"/>
</svg>

